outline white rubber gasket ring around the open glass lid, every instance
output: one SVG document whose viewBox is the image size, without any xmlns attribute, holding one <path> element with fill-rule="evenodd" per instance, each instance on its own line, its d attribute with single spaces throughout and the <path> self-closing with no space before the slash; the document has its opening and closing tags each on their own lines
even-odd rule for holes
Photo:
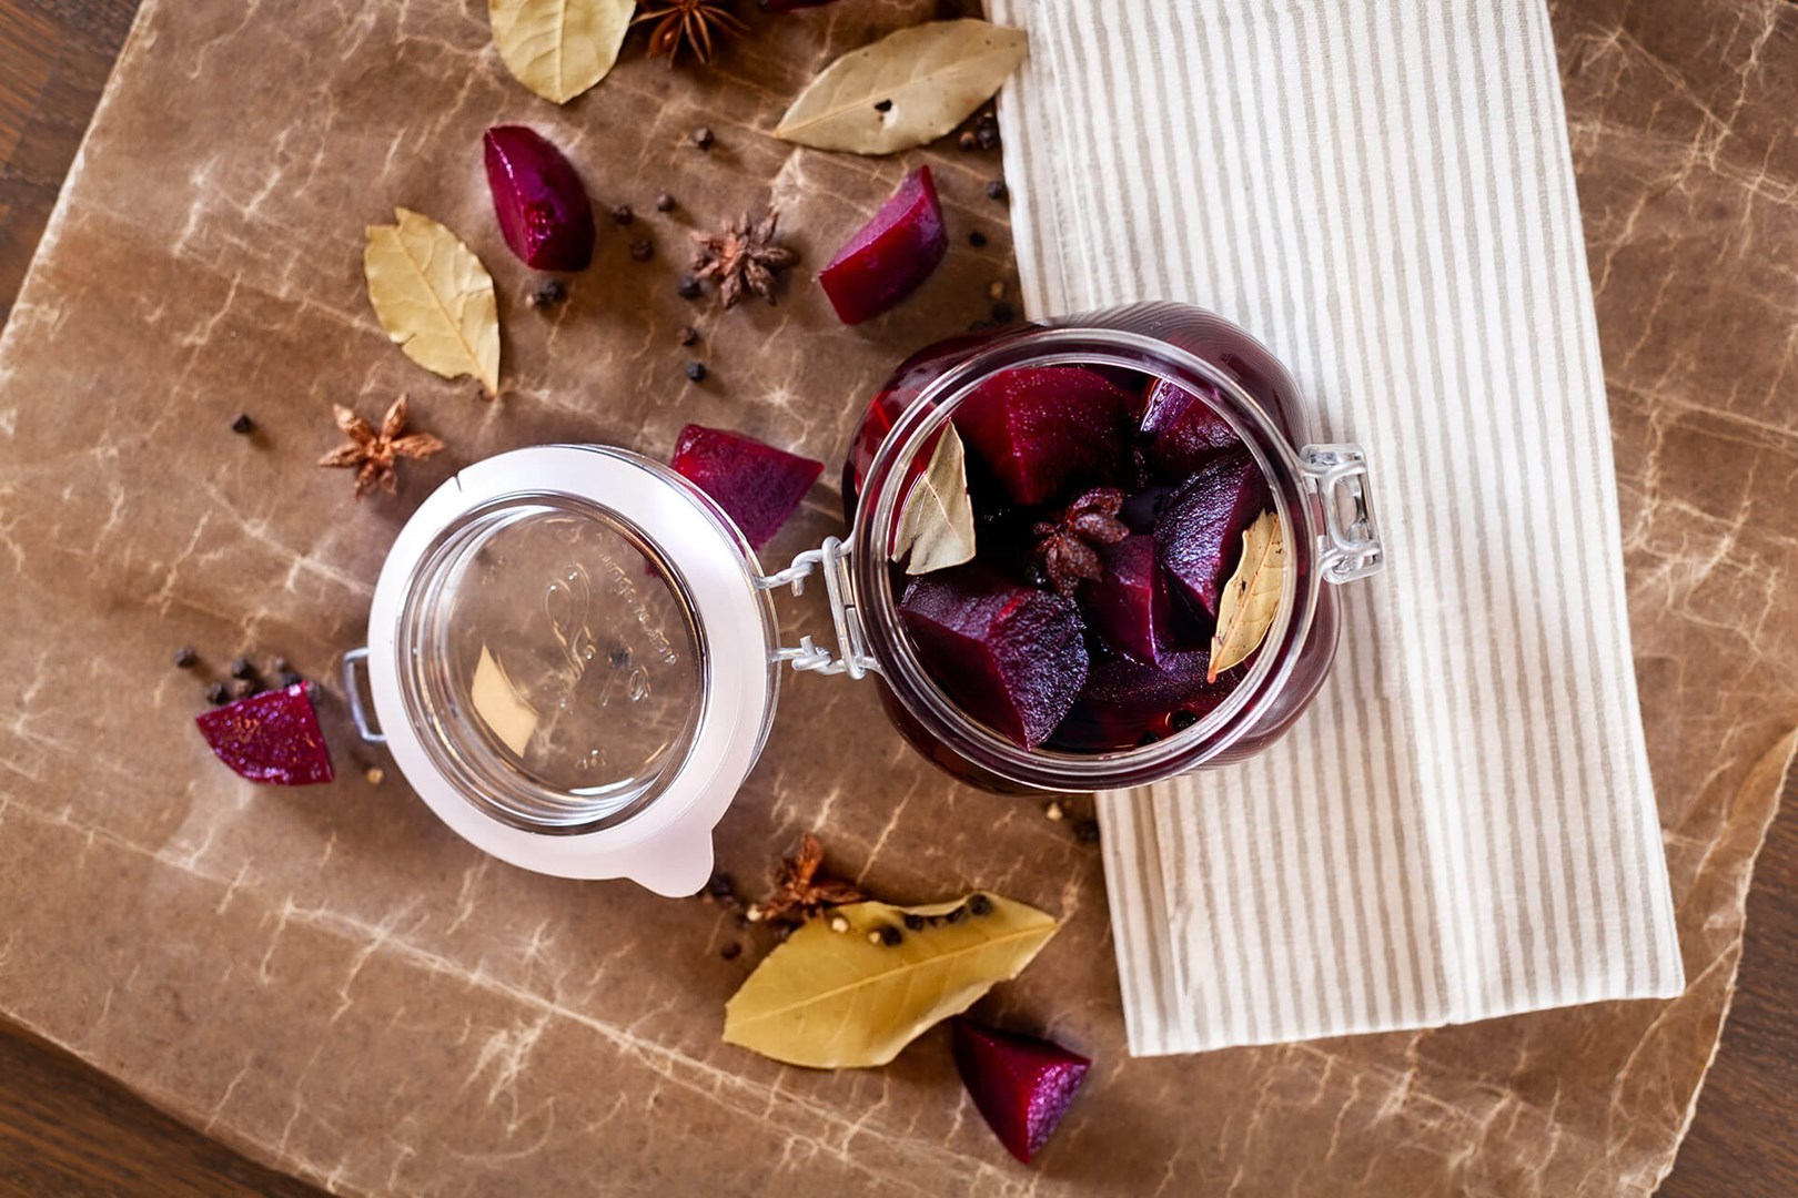
<svg viewBox="0 0 1798 1198">
<path fill-rule="evenodd" d="M 712 828 L 761 754 L 775 688 L 768 598 L 734 533 L 667 467 L 622 449 L 538 445 L 464 469 L 394 541 L 369 611 L 369 693 L 387 747 L 419 797 L 464 841 L 503 862 L 561 878 L 629 878 L 694 894 L 712 875 Z M 575 835 L 512 828 L 469 803 L 432 763 L 399 683 L 399 614 L 419 560 L 464 514 L 509 496 L 559 494 L 610 508 L 680 571 L 705 632 L 699 724 L 667 788 L 620 824 Z"/>
</svg>

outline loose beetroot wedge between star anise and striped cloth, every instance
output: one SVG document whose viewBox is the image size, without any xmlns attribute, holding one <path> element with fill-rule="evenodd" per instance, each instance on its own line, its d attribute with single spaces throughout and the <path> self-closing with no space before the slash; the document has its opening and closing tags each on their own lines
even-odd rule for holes
<svg viewBox="0 0 1798 1198">
<path fill-rule="evenodd" d="M 919 167 L 818 271 L 818 282 L 836 318 L 859 325 L 917 291 L 948 251 L 937 185 L 930 167 Z"/>
</svg>

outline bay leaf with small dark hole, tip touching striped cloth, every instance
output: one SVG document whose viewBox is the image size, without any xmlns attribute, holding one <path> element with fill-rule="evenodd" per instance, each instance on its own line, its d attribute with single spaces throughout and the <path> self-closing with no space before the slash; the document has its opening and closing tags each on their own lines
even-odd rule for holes
<svg viewBox="0 0 1798 1198">
<path fill-rule="evenodd" d="M 1023 61 L 1021 29 L 930 22 L 836 59 L 800 92 L 775 137 L 818 149 L 892 154 L 962 124 Z"/>
</svg>

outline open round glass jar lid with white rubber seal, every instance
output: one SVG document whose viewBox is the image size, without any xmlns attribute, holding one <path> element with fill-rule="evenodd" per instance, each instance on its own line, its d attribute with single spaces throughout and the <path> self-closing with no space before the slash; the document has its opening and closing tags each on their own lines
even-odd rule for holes
<svg viewBox="0 0 1798 1198">
<path fill-rule="evenodd" d="M 464 469 L 376 586 L 369 691 L 397 765 L 503 860 L 698 891 L 773 718 L 759 577 L 730 519 L 638 454 Z"/>
</svg>

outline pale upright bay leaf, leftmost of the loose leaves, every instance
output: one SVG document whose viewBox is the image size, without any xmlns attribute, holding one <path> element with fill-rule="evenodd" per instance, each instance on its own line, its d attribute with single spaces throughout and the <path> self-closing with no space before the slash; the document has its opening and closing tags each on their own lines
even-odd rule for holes
<svg viewBox="0 0 1798 1198">
<path fill-rule="evenodd" d="M 455 233 L 410 208 L 370 225 L 361 266 L 369 302 L 406 357 L 446 379 L 500 392 L 500 309 L 493 277 Z"/>
</svg>

